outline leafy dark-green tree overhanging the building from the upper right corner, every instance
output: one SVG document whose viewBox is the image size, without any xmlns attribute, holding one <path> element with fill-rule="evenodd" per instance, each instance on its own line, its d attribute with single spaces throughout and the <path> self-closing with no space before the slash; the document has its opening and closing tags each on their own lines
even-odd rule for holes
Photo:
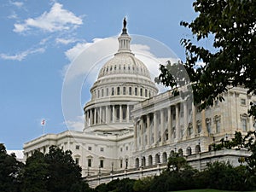
<svg viewBox="0 0 256 192">
<path fill-rule="evenodd" d="M 221 102 L 221 93 L 240 85 L 255 95 L 256 1 L 196 0 L 193 6 L 199 15 L 191 23 L 181 22 L 191 30 L 193 39 L 183 38 L 181 43 L 186 51 L 183 66 L 192 82 L 195 103 L 205 108 L 215 99 Z M 210 36 L 212 47 L 202 47 L 201 41 Z M 199 67 L 198 61 L 204 66 Z M 168 76 L 166 68 L 160 65 L 162 77 Z M 176 85 L 176 79 L 160 81 Z M 251 103 L 249 113 L 256 118 L 255 103 Z"/>
</svg>

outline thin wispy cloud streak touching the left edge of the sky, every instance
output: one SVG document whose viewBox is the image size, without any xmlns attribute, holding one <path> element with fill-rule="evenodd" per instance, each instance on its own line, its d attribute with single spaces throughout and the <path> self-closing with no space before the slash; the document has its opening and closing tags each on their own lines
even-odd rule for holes
<svg viewBox="0 0 256 192">
<path fill-rule="evenodd" d="M 0 54 L 0 58 L 3 60 L 13 60 L 13 61 L 22 61 L 26 58 L 27 55 L 32 55 L 36 53 L 44 53 L 44 48 L 38 48 L 38 49 L 27 49 L 20 54 L 15 55 L 7 55 L 7 54 Z"/>
</svg>

